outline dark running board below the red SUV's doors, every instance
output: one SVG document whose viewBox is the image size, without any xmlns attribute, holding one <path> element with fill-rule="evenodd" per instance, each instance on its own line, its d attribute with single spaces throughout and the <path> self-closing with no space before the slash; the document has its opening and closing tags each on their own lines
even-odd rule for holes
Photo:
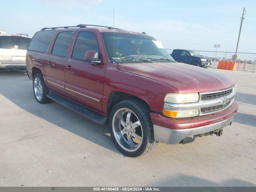
<svg viewBox="0 0 256 192">
<path fill-rule="evenodd" d="M 80 104 L 76 104 L 54 92 L 49 91 L 49 93 L 46 96 L 51 100 L 55 101 L 56 103 L 61 104 L 62 106 L 76 112 L 77 114 L 83 116 L 88 120 L 91 120 L 95 123 L 102 124 L 102 125 L 108 124 L 107 117 L 100 115 L 96 112 L 93 112 L 92 110 L 89 110 L 88 108 Z"/>
</svg>

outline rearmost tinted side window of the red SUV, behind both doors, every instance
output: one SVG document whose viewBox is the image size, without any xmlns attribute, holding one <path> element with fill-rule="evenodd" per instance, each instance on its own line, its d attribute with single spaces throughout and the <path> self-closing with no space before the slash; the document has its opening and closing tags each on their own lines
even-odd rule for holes
<svg viewBox="0 0 256 192">
<path fill-rule="evenodd" d="M 46 52 L 55 31 L 39 31 L 32 38 L 28 50 Z"/>
</svg>

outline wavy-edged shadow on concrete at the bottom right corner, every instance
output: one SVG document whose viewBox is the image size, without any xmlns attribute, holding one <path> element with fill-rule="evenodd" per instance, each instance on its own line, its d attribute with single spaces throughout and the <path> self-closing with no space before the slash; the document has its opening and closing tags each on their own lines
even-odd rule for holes
<svg viewBox="0 0 256 192">
<path fill-rule="evenodd" d="M 215 165 L 216 166 L 216 165 Z M 210 174 L 210 173 L 208 173 Z M 207 175 L 207 174 L 206 174 Z M 211 175 L 211 174 L 210 174 Z M 228 180 L 223 180 L 221 182 L 213 182 L 211 180 L 207 180 L 205 178 L 199 178 L 196 176 L 191 175 L 184 175 L 184 174 L 176 174 L 175 176 L 167 177 L 165 180 L 157 180 L 155 178 L 154 182 L 149 183 L 146 186 L 154 186 L 154 183 L 157 184 L 157 186 L 174 186 L 177 187 L 177 184 L 179 186 L 187 186 L 187 187 L 200 187 L 200 188 L 172 188 L 171 191 L 219 191 L 216 188 L 204 188 L 204 187 L 255 187 L 256 185 L 250 182 L 246 182 L 243 180 L 240 180 L 239 178 L 230 178 Z M 234 188 L 219 188 L 220 191 L 246 191 L 244 190 L 235 190 Z M 170 189 L 169 189 L 170 190 Z M 161 190 L 162 191 L 162 190 Z M 165 191 L 165 190 L 163 190 Z M 168 191 L 168 190 L 166 190 Z"/>
</svg>

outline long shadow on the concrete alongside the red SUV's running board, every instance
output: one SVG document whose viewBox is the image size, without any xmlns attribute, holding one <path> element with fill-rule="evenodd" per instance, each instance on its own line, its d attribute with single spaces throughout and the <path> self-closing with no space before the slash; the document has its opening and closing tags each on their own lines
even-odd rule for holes
<svg viewBox="0 0 256 192">
<path fill-rule="evenodd" d="M 0 84 L 0 94 L 16 106 L 55 126 L 123 155 L 114 146 L 107 125 L 96 124 L 55 102 L 48 104 L 36 102 L 32 81 L 27 77 L 26 71 L 1 71 L 0 82 L 4 82 Z"/>
</svg>

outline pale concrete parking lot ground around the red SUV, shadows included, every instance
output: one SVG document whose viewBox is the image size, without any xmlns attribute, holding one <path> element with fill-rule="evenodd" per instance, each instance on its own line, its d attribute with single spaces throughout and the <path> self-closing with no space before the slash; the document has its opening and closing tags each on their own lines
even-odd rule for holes
<svg viewBox="0 0 256 192">
<path fill-rule="evenodd" d="M 232 126 L 138 158 L 116 149 L 108 126 L 36 102 L 26 72 L 0 72 L 0 186 L 256 186 L 256 74 L 207 70 L 237 82 Z"/>
</svg>

